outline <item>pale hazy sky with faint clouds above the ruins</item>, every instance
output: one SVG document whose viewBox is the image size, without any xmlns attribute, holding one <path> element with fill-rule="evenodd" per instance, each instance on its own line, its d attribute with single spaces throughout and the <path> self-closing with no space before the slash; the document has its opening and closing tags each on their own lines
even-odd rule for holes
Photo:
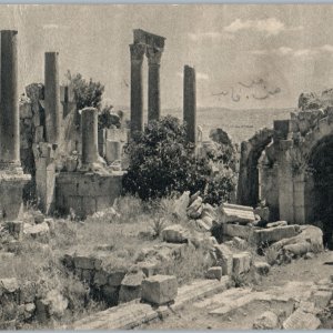
<svg viewBox="0 0 333 333">
<path fill-rule="evenodd" d="M 333 88 L 331 4 L 11 4 L 0 28 L 19 31 L 20 91 L 43 82 L 44 52 L 130 104 L 133 29 L 167 38 L 161 107 L 182 108 L 183 67 L 196 71 L 198 107 L 293 108 L 301 92 Z M 144 103 L 148 64 L 143 63 Z"/>
</svg>

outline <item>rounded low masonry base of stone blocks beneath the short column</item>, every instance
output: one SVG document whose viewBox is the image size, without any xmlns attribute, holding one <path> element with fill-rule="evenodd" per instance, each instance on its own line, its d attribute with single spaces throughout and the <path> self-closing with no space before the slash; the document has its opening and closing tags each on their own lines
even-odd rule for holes
<svg viewBox="0 0 333 333">
<path fill-rule="evenodd" d="M 123 172 L 61 172 L 56 179 L 56 210 L 84 219 L 109 208 L 122 192 Z"/>
</svg>

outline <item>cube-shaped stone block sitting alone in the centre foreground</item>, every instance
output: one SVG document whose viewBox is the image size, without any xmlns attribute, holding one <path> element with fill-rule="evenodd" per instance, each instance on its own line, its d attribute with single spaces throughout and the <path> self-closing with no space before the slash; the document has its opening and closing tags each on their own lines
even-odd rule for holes
<svg viewBox="0 0 333 333">
<path fill-rule="evenodd" d="M 174 301 L 178 293 L 173 275 L 154 275 L 142 282 L 141 299 L 148 303 L 162 305 Z"/>
</svg>

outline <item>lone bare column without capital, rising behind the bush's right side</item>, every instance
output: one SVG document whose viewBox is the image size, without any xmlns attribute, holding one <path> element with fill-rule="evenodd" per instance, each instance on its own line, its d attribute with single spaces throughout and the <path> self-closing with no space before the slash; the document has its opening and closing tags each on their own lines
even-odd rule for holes
<svg viewBox="0 0 333 333">
<path fill-rule="evenodd" d="M 196 143 L 196 98 L 195 98 L 195 70 L 184 67 L 184 97 L 183 112 L 186 123 L 188 141 Z"/>
</svg>

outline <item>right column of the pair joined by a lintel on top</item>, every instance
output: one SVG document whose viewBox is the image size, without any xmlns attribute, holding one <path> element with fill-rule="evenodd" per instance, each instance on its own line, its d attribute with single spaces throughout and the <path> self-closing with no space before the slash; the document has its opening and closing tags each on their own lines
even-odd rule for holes
<svg viewBox="0 0 333 333">
<path fill-rule="evenodd" d="M 160 64 L 162 49 L 147 48 L 148 58 L 148 122 L 159 120 L 161 115 Z"/>
</svg>

